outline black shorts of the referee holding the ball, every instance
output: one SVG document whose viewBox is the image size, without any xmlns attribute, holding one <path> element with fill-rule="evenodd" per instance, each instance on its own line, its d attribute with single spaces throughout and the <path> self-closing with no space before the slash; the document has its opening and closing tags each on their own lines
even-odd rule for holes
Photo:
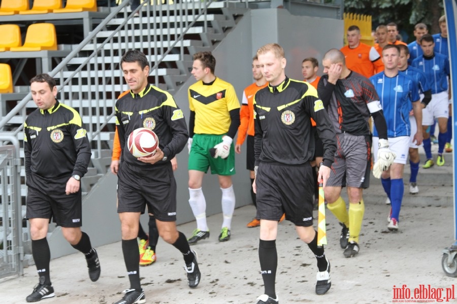
<svg viewBox="0 0 457 304">
<path fill-rule="evenodd" d="M 176 181 L 170 162 L 151 166 L 122 163 L 117 173 L 117 212 L 144 213 L 163 222 L 176 221 Z"/>
</svg>

